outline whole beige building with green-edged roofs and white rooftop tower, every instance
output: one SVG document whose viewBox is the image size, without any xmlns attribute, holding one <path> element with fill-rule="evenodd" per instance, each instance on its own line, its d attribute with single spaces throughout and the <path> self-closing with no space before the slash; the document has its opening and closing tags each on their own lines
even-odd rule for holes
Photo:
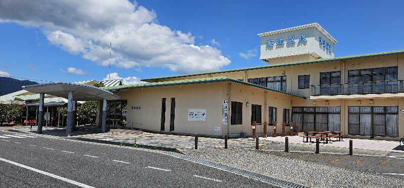
<svg viewBox="0 0 404 188">
<path fill-rule="evenodd" d="M 222 137 L 263 133 L 268 122 L 300 131 L 396 140 L 404 132 L 404 50 L 334 57 L 319 24 L 260 33 L 267 65 L 148 78 L 105 87 L 126 100 L 128 123 L 164 133 Z M 400 73 L 401 72 L 401 73 Z M 279 132 L 279 131 L 278 131 Z M 288 130 L 287 130 L 288 132 Z"/>
</svg>

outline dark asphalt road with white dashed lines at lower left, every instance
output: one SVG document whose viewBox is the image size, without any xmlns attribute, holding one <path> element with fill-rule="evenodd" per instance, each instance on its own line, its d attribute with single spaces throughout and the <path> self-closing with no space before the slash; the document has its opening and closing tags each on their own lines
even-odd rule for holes
<svg viewBox="0 0 404 188">
<path fill-rule="evenodd" d="M 21 135 L 0 131 L 0 187 L 275 187 L 154 150 Z"/>
</svg>

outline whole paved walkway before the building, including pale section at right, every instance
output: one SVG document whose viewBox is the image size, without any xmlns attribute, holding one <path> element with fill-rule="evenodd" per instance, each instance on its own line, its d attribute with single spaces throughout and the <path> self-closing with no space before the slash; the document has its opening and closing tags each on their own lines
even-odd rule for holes
<svg viewBox="0 0 404 188">
<path fill-rule="evenodd" d="M 29 132 L 29 129 L 16 129 L 21 132 Z M 129 133 L 99 133 L 97 128 L 79 127 L 73 131 L 70 139 L 79 139 L 94 142 L 113 142 L 115 144 L 136 144 L 170 149 L 194 148 L 193 136 L 180 136 L 168 134 L 129 134 Z M 35 132 L 35 131 L 33 131 Z M 65 130 L 58 128 L 43 128 L 43 134 L 64 137 Z M 66 137 L 65 137 L 66 138 Z M 285 137 L 260 138 L 259 147 L 263 150 L 283 151 Z M 320 144 L 320 152 L 328 153 L 349 153 L 349 139 L 343 139 L 342 142 L 332 142 L 329 144 Z M 404 152 L 396 150 L 399 148 L 397 141 L 380 141 L 366 139 L 354 140 L 354 154 L 380 155 L 386 156 L 390 152 Z M 232 138 L 228 140 L 228 148 L 247 148 L 254 149 L 256 140 L 252 138 Z M 198 138 L 198 148 L 224 148 L 224 139 L 219 138 Z M 316 146 L 314 143 L 302 143 L 302 138 L 298 136 L 289 137 L 289 151 L 314 152 Z"/>
</svg>

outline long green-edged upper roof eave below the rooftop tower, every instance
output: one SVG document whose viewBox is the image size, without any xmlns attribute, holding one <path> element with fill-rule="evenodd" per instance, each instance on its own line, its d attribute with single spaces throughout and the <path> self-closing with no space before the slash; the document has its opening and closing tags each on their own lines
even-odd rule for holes
<svg viewBox="0 0 404 188">
<path fill-rule="evenodd" d="M 225 73 L 225 72 L 237 72 L 237 71 L 245 71 L 245 70 L 273 68 L 273 67 L 281 67 L 281 66 L 301 65 L 301 64 L 310 64 L 310 63 L 322 63 L 322 62 L 328 62 L 328 61 L 358 59 L 358 58 L 375 57 L 375 56 L 382 56 L 382 55 L 395 55 L 395 54 L 401 54 L 401 53 L 404 53 L 404 50 L 396 50 L 396 51 L 389 51 L 389 52 L 378 52 L 378 53 L 368 53 L 368 54 L 342 56 L 342 57 L 333 57 L 333 58 L 317 59 L 317 60 L 310 60 L 310 61 L 298 61 L 298 62 L 290 62 L 290 63 L 280 63 L 280 64 L 264 65 L 264 66 L 256 66 L 256 67 L 247 67 L 247 68 L 236 68 L 236 69 L 221 70 L 221 71 L 214 71 L 214 72 L 201 72 L 201 73 L 195 73 L 195 74 L 182 74 L 182 75 L 175 75 L 175 76 L 163 76 L 163 77 L 141 79 L 141 81 L 153 81 L 153 80 L 164 79 L 164 78 L 177 78 L 177 77 L 198 76 L 198 75 L 205 75 L 205 74 L 216 74 L 216 73 Z"/>
</svg>

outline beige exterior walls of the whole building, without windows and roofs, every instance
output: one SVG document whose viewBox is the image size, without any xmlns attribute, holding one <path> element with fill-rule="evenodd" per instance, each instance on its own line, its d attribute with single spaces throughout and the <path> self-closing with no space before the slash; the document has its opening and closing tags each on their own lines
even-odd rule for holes
<svg viewBox="0 0 404 188">
<path fill-rule="evenodd" d="M 290 58 L 290 57 L 289 57 Z M 282 59 L 282 58 L 280 58 Z M 285 58 L 286 59 L 286 58 Z M 280 60 L 282 61 L 282 60 Z M 243 79 L 247 81 L 248 78 L 259 78 L 259 77 L 268 77 L 268 76 L 281 76 L 286 75 L 286 91 L 290 93 L 294 93 L 300 96 L 304 96 L 307 99 L 301 99 L 296 97 L 290 97 L 283 95 L 281 93 L 267 91 L 267 97 L 265 97 L 265 89 L 247 86 L 238 83 L 215 83 L 215 84 L 192 84 L 192 85 L 184 85 L 181 87 L 171 86 L 171 87 L 160 87 L 160 88 L 144 88 L 144 90 L 151 90 L 153 92 L 147 92 L 151 94 L 141 94 L 140 89 L 133 89 L 134 91 L 130 91 L 131 96 L 137 96 L 136 99 L 152 99 L 153 98 L 153 108 L 158 108 L 159 111 L 156 111 L 153 115 L 151 115 L 151 111 L 147 111 L 147 113 L 142 114 L 140 116 L 144 116 L 144 118 L 134 118 L 129 121 L 140 121 L 145 122 L 145 119 L 154 117 L 154 120 L 150 125 L 153 126 L 153 130 L 160 130 L 160 109 L 161 109 L 161 98 L 166 96 L 167 98 L 167 116 L 166 116 L 166 131 L 169 130 L 169 107 L 170 107 L 170 98 L 172 96 L 176 97 L 177 100 L 177 109 L 183 108 L 176 112 L 176 130 L 175 132 L 183 132 L 188 133 L 194 130 L 206 132 L 207 134 L 213 135 L 221 135 L 224 133 L 230 132 L 232 134 L 246 133 L 247 136 L 251 135 L 251 127 L 250 127 L 250 116 L 251 116 L 251 106 L 246 107 L 245 103 L 249 102 L 250 105 L 262 105 L 262 122 L 266 121 L 268 118 L 268 107 L 273 106 L 278 108 L 277 120 L 278 124 L 281 124 L 282 121 L 282 111 L 283 109 L 291 109 L 291 107 L 341 107 L 341 131 L 344 135 L 348 135 L 348 107 L 349 106 L 398 106 L 399 114 L 398 114 L 398 136 L 402 136 L 404 133 L 404 114 L 400 113 L 400 110 L 404 110 L 404 98 L 395 98 L 389 99 L 385 98 L 369 98 L 369 99 L 337 99 L 337 100 L 328 100 L 324 99 L 315 99 L 310 100 L 311 96 L 311 88 L 308 89 L 298 89 L 298 75 L 306 75 L 310 74 L 310 85 L 320 84 L 320 72 L 329 72 L 329 71 L 341 71 L 341 82 L 346 83 L 348 81 L 348 70 L 354 69 L 364 69 L 364 68 L 377 68 L 377 67 L 389 67 L 389 66 L 398 66 L 398 79 L 404 79 L 404 54 L 399 55 L 386 55 L 386 56 L 377 56 L 377 57 L 368 57 L 368 58 L 359 58 L 359 59 L 350 59 L 350 60 L 340 60 L 340 61 L 330 61 L 323 63 L 313 63 L 313 64 L 302 64 L 302 65 L 293 65 L 293 66 L 283 66 L 283 67 L 274 67 L 274 68 L 264 68 L 264 69 L 255 69 L 255 70 L 246 70 L 246 71 L 237 71 L 237 72 L 226 72 L 226 73 L 215 73 L 215 74 L 206 74 L 206 75 L 198 75 L 198 76 L 187 76 L 187 77 L 177 77 L 177 78 L 166 78 L 165 81 L 168 80 L 180 80 L 180 79 L 193 79 L 200 77 L 215 77 L 215 76 L 226 76 L 234 79 Z M 163 81 L 163 80 L 159 80 Z M 201 85 L 201 86 L 193 86 L 193 85 Z M 203 85 L 203 86 L 202 86 Z M 186 89 L 185 89 L 186 88 Z M 154 90 L 156 89 L 156 90 Z M 136 90 L 136 91 L 135 91 Z M 231 92 L 229 92 L 231 91 Z M 128 93 L 127 91 L 125 91 Z M 124 95 L 125 92 L 122 92 Z M 160 94 L 159 94 L 160 93 Z M 162 94 L 164 93 L 164 95 Z M 209 95 L 206 95 L 209 93 Z M 212 93 L 212 94 L 211 94 Z M 119 96 L 122 96 L 121 93 L 118 93 Z M 383 94 L 384 95 L 384 94 Z M 380 95 L 380 96 L 383 96 Z M 401 95 L 401 94 L 400 94 Z M 207 97 L 209 96 L 209 98 Z M 370 96 L 370 95 L 368 95 Z M 385 96 L 388 96 L 387 94 Z M 204 102 L 200 101 L 192 101 L 192 99 L 205 100 Z M 136 100 L 135 99 L 135 100 Z M 182 102 L 180 102 L 182 99 Z M 213 127 L 218 126 L 217 122 L 221 122 L 222 120 L 222 99 L 229 100 L 229 119 L 228 123 L 230 124 L 231 117 L 231 101 L 242 102 L 243 103 L 243 124 L 242 125 L 222 125 L 221 132 L 214 132 Z M 373 104 L 370 104 L 370 99 L 373 99 Z M 361 100 L 361 103 L 358 104 L 358 100 Z M 148 101 L 148 100 L 147 100 Z M 185 102 L 186 101 L 186 102 Z M 135 102 L 137 103 L 137 102 Z M 141 100 L 139 101 L 141 102 Z M 181 104 L 182 103 L 182 104 Z M 192 105 L 192 103 L 195 103 Z M 145 104 L 142 104 L 142 108 Z M 198 107 L 200 106 L 200 107 Z M 265 106 L 265 108 L 264 108 Z M 180 128 L 180 124 L 182 122 L 186 122 L 184 124 L 188 124 L 186 121 L 186 113 L 188 108 L 201 108 L 201 109 L 210 109 L 207 112 L 207 117 L 209 120 L 207 122 L 210 125 L 206 125 L 207 128 L 198 128 L 199 122 L 191 122 L 191 126 L 183 126 L 184 128 Z M 211 111 L 218 113 L 217 117 L 214 116 Z M 128 111 L 128 113 L 130 110 Z M 291 112 L 291 111 L 290 111 Z M 138 112 L 136 112 L 138 113 Z M 155 114 L 159 118 L 156 118 Z M 179 114 L 183 115 L 182 119 Z M 182 116 L 182 115 L 181 115 Z M 216 116 L 216 115 L 215 115 Z M 291 116 L 290 116 L 291 117 Z M 214 121 L 211 121 L 211 118 L 214 118 Z M 280 120 L 280 121 L 279 121 Z M 178 122 L 178 123 L 177 123 Z M 181 123 L 180 123 L 181 122 Z M 178 127 L 178 130 L 177 130 Z M 192 127 L 192 128 L 190 128 Z M 203 127 L 203 126 L 202 126 Z M 195 128 L 195 129 L 194 129 Z M 278 132 L 280 131 L 278 127 Z M 286 129 L 287 130 L 287 129 Z M 268 127 L 268 134 L 272 133 L 273 127 Z M 257 133 L 263 132 L 263 126 L 257 126 Z M 369 138 L 369 136 L 355 136 L 359 138 Z M 395 140 L 397 137 L 375 137 L 376 139 L 392 139 Z"/>
</svg>

